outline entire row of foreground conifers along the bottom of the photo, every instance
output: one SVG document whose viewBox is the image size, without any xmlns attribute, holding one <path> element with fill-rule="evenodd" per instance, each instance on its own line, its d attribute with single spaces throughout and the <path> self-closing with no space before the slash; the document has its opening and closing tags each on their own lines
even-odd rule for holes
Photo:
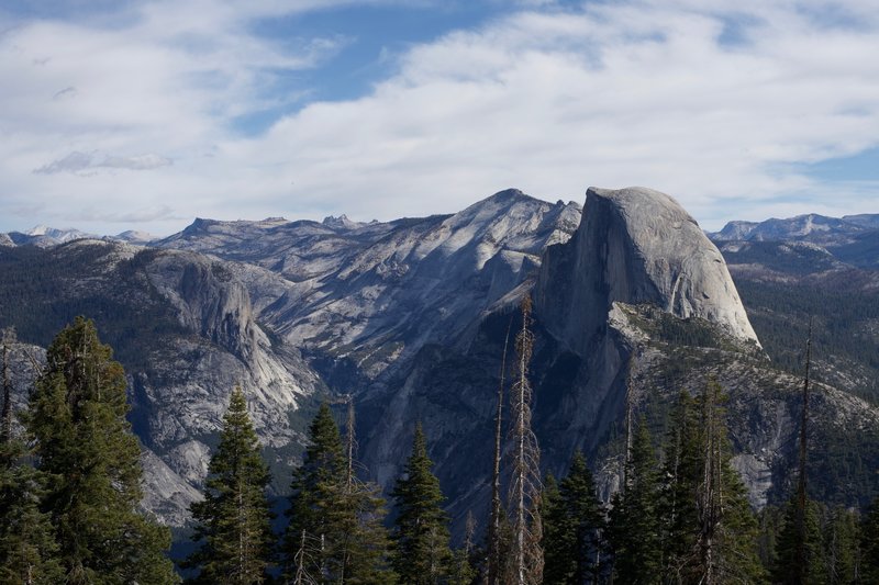
<svg viewBox="0 0 879 585">
<path fill-rule="evenodd" d="M 876 583 L 879 500 L 864 510 L 805 495 L 804 465 L 781 507 L 756 513 L 731 464 L 726 397 L 715 381 L 681 392 L 670 429 L 654 436 L 630 413 L 620 490 L 603 503 L 577 452 L 561 477 L 538 477 L 528 428 L 533 334 L 523 303 L 515 337 L 508 497 L 493 530 L 470 516 L 453 545 L 430 438 L 411 451 L 389 497 L 356 460 L 355 413 L 344 428 L 323 404 L 293 471 L 286 528 L 272 529 L 270 473 L 241 389 L 232 391 L 203 499 L 191 507 L 193 551 L 169 559 L 170 533 L 138 509 L 140 448 L 125 419 L 122 367 L 94 325 L 77 318 L 52 342 L 27 408 L 11 406 L 3 345 L 0 582 L 10 584 L 586 584 Z M 806 375 L 804 404 L 808 404 Z M 503 387 L 499 393 L 504 398 Z M 518 401 L 518 404 L 516 404 Z M 500 413 L 498 410 L 499 428 Z M 808 424 L 803 412 L 802 425 Z M 805 432 L 801 449 L 805 450 Z M 499 441 L 502 442 L 502 441 Z M 500 482 L 499 482 L 500 483 Z M 478 510 L 472 510 L 474 513 Z"/>
</svg>

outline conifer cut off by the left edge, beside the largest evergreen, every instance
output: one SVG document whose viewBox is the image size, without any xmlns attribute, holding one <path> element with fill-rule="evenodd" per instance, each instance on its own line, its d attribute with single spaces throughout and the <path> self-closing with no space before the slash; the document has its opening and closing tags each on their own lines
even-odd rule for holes
<svg viewBox="0 0 879 585">
<path fill-rule="evenodd" d="M 58 544 L 40 509 L 45 477 L 24 461 L 26 448 L 12 427 L 9 347 L 2 346 L 2 432 L 0 432 L 0 583 L 53 585 L 64 580 Z"/>
</svg>

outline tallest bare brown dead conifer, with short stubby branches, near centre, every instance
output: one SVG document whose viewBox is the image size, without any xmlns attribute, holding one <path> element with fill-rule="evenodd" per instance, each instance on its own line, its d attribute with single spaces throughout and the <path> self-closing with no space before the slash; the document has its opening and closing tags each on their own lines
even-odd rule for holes
<svg viewBox="0 0 879 585">
<path fill-rule="evenodd" d="M 538 585 L 543 581 L 541 452 L 531 427 L 532 387 L 528 381 L 528 363 L 534 352 L 531 307 L 531 297 L 525 296 L 522 300 L 522 329 L 515 338 L 516 380 L 511 391 L 513 465 L 509 508 L 513 514 L 513 539 L 511 574 L 504 582 L 516 585 Z"/>
</svg>

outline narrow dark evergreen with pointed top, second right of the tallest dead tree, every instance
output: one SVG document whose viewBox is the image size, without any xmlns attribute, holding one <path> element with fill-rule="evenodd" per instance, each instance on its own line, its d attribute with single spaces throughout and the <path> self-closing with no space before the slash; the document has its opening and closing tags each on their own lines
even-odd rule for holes
<svg viewBox="0 0 879 585">
<path fill-rule="evenodd" d="M 659 473 L 647 421 L 642 416 L 626 461 L 625 484 L 614 494 L 609 536 L 614 582 L 660 583 Z"/>
</svg>

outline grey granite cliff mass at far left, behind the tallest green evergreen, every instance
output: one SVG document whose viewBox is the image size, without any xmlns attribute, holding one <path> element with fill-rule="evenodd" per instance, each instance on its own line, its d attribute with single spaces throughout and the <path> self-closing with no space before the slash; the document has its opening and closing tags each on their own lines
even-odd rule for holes
<svg viewBox="0 0 879 585">
<path fill-rule="evenodd" d="M 0 250 L 4 293 L 27 306 L 23 314 L 0 307 L 0 320 L 45 346 L 84 313 L 125 365 L 131 420 L 145 448 L 148 509 L 175 526 L 187 520 L 235 385 L 280 470 L 275 488 L 287 487 L 310 416 L 298 413 L 325 386 L 294 347 L 257 322 L 245 282 L 275 290 L 282 279 L 199 254 L 101 240 Z M 16 380 L 21 406 L 32 376 Z"/>
</svg>

